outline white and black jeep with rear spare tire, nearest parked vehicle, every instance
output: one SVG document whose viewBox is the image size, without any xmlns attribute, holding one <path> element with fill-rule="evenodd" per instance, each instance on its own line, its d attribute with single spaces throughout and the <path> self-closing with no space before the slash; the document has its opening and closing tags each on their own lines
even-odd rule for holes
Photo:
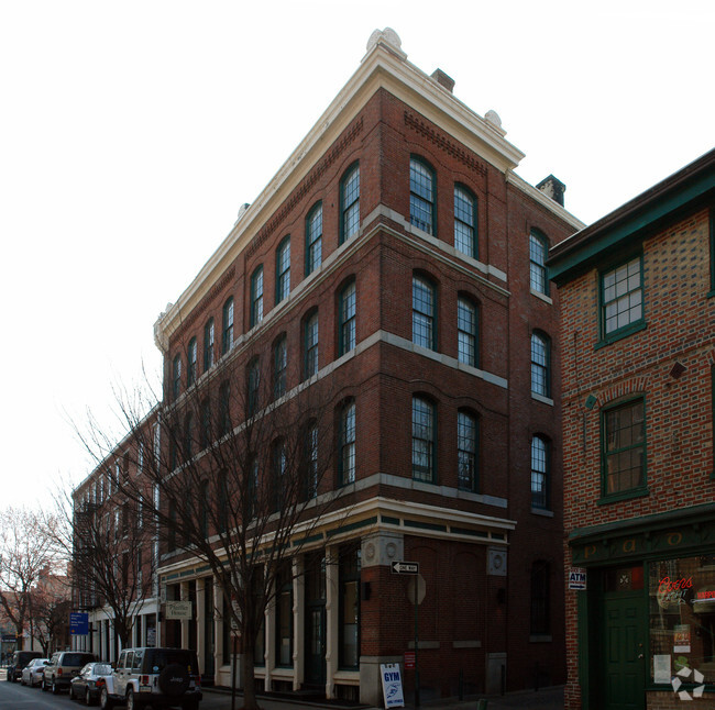
<svg viewBox="0 0 715 710">
<path fill-rule="evenodd" d="M 112 673 L 113 688 L 105 686 L 102 710 L 125 703 L 127 710 L 151 705 L 152 710 L 197 710 L 201 677 L 196 653 L 187 648 L 125 648 Z"/>
</svg>

